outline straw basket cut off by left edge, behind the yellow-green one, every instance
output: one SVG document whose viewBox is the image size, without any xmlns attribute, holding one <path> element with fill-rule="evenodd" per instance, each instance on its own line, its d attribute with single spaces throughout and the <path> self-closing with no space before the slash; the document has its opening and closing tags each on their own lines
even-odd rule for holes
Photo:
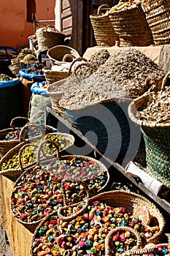
<svg viewBox="0 0 170 256">
<path fill-rule="evenodd" d="M 15 117 L 11 120 L 10 128 L 0 131 L 0 157 L 3 157 L 10 148 L 18 145 L 20 129 L 28 121 L 28 118 L 25 117 Z"/>
</svg>

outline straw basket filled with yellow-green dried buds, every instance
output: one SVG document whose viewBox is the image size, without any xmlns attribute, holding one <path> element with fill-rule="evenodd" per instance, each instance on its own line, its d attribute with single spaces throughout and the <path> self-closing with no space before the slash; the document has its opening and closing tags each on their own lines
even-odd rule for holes
<svg viewBox="0 0 170 256">
<path fill-rule="evenodd" d="M 53 141 L 57 146 L 59 151 L 72 146 L 74 144 L 74 136 L 66 133 L 56 132 L 53 127 L 43 128 L 38 124 L 28 123 L 20 131 L 19 140 L 20 143 L 11 148 L 7 154 L 0 160 L 0 175 L 7 176 L 7 178 L 16 181 L 17 178 L 26 170 L 28 167 L 36 162 L 36 151 L 42 140 Z M 28 131 L 36 132 L 34 137 L 26 139 L 26 132 Z M 30 132 L 29 132 L 29 135 Z M 30 145 L 31 143 L 31 145 Z M 25 146 L 22 150 L 21 148 Z M 49 148 L 50 144 L 47 143 L 44 147 L 46 156 L 49 157 L 50 154 L 55 152 L 55 148 Z"/>
</svg>

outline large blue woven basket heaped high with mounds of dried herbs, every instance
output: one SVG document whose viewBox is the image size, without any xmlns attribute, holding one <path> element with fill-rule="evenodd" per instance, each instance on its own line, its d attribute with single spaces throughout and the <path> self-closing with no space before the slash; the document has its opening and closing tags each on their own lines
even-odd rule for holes
<svg viewBox="0 0 170 256">
<path fill-rule="evenodd" d="M 131 133 L 129 125 L 132 122 L 128 118 L 131 98 L 142 95 L 152 86 L 160 86 L 164 72 L 133 48 L 108 56 L 93 72 L 91 67 L 85 70 L 77 67 L 76 74 L 55 87 L 55 94 L 58 92 L 61 97 L 59 105 L 69 121 L 98 150 L 108 156 L 124 157 Z M 96 133 L 97 144 L 95 136 L 90 136 L 88 131 Z"/>
</svg>

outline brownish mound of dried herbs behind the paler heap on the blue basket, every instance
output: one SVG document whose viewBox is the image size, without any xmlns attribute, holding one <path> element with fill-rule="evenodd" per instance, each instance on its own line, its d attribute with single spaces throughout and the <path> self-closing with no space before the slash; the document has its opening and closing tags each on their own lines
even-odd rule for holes
<svg viewBox="0 0 170 256">
<path fill-rule="evenodd" d="M 155 62 L 134 48 L 119 50 L 95 72 L 104 79 L 110 79 L 135 98 L 155 86 L 164 76 Z M 150 78 L 145 84 L 146 78 Z"/>
</svg>

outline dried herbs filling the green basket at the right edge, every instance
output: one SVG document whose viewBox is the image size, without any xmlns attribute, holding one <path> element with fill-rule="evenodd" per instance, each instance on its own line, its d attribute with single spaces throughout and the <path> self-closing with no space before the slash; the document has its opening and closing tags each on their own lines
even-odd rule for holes
<svg viewBox="0 0 170 256">
<path fill-rule="evenodd" d="M 170 87 L 150 95 L 150 100 L 143 110 L 139 110 L 139 118 L 151 123 L 170 123 Z"/>
</svg>

